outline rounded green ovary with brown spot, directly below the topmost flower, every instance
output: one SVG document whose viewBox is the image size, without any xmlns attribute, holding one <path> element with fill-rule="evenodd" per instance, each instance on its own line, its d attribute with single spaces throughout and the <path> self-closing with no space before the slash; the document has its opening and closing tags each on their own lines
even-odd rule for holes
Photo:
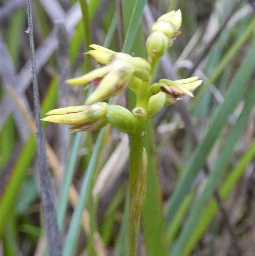
<svg viewBox="0 0 255 256">
<path fill-rule="evenodd" d="M 146 51 L 150 62 L 158 61 L 169 46 L 168 37 L 162 31 L 155 31 L 146 40 Z"/>
</svg>

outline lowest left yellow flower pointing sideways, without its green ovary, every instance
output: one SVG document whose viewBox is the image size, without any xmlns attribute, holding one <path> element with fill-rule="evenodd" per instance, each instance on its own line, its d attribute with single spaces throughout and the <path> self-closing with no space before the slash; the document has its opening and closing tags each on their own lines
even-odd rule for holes
<svg viewBox="0 0 255 256">
<path fill-rule="evenodd" d="M 93 105 L 69 106 L 65 108 L 53 109 L 46 113 L 47 117 L 41 120 L 71 124 L 75 132 L 94 131 L 104 127 L 108 121 L 106 119 L 106 102 L 99 102 Z"/>
</svg>

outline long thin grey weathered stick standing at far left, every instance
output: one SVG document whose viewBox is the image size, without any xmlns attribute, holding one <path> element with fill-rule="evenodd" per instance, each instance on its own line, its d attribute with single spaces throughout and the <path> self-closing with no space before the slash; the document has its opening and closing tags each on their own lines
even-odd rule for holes
<svg viewBox="0 0 255 256">
<path fill-rule="evenodd" d="M 40 100 L 37 81 L 37 72 L 34 60 L 34 41 L 33 41 L 33 21 L 31 12 L 31 0 L 27 0 L 27 17 L 30 55 L 32 63 L 32 81 L 33 81 L 33 100 L 36 123 L 36 141 L 37 141 L 37 155 L 38 155 L 38 169 L 40 177 L 40 193 L 41 204 L 43 211 L 44 226 L 47 235 L 49 253 L 51 256 L 62 255 L 62 238 L 60 236 L 56 218 L 55 209 L 55 195 L 54 189 L 50 180 L 49 166 L 47 163 L 45 137 L 43 133 L 42 124 L 40 121 Z"/>
</svg>

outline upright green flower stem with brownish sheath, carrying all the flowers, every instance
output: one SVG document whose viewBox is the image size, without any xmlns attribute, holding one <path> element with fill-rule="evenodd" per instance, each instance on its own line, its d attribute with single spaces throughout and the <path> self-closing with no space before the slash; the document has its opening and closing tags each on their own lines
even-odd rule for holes
<svg viewBox="0 0 255 256">
<path fill-rule="evenodd" d="M 156 63 L 152 67 L 154 70 Z M 153 72 L 152 72 L 153 73 Z M 147 111 L 151 79 L 143 81 L 142 86 L 136 91 L 136 107 Z M 137 84 L 137 86 L 139 86 Z M 135 113 L 133 112 L 135 115 Z M 129 211 L 128 211 L 128 250 L 127 256 L 137 255 L 138 236 L 142 206 L 146 195 L 147 176 L 147 155 L 144 149 L 144 136 L 146 114 L 135 115 L 135 133 L 130 135 L 130 156 L 129 156 Z"/>
</svg>

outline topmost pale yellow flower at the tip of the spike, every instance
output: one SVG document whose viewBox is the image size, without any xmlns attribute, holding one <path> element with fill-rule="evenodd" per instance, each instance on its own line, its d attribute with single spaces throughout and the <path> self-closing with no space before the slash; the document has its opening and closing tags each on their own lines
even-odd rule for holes
<svg viewBox="0 0 255 256">
<path fill-rule="evenodd" d="M 157 19 L 153 24 L 153 31 L 162 31 L 168 38 L 175 38 L 180 34 L 181 11 L 168 12 Z"/>
</svg>

